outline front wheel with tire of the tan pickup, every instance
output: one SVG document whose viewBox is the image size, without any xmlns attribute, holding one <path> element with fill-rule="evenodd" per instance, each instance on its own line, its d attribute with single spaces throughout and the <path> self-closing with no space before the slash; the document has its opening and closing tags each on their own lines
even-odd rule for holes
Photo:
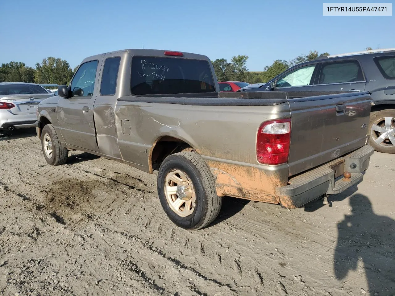
<svg viewBox="0 0 395 296">
<path fill-rule="evenodd" d="M 41 131 L 41 148 L 47 163 L 50 165 L 63 165 L 67 161 L 69 151 L 62 147 L 52 124 L 47 124 Z M 52 151 L 50 152 L 50 148 Z"/>
</svg>

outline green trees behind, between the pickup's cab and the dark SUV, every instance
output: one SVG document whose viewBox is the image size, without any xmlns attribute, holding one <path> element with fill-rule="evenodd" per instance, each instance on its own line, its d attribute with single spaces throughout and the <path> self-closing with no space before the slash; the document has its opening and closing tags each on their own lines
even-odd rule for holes
<svg viewBox="0 0 395 296">
<path fill-rule="evenodd" d="M 294 65 L 312 61 L 320 56 L 326 56 L 329 53 L 319 54 L 318 51 L 310 51 L 308 54 L 300 54 L 292 60 L 275 60 L 270 66 L 263 68 L 263 71 L 248 71 L 246 63 L 248 56 L 233 56 L 228 62 L 224 58 L 218 58 L 213 63 L 215 75 L 218 81 L 245 81 L 249 83 L 267 82 Z"/>
</svg>

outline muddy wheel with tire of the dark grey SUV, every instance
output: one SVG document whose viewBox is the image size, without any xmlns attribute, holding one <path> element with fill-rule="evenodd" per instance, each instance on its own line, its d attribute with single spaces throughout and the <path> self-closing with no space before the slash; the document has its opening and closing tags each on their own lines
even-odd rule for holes
<svg viewBox="0 0 395 296">
<path fill-rule="evenodd" d="M 394 128 L 395 109 L 384 109 L 371 112 L 369 120 L 369 144 L 374 150 L 382 153 L 395 153 Z M 392 132 L 389 133 L 389 131 Z"/>
</svg>

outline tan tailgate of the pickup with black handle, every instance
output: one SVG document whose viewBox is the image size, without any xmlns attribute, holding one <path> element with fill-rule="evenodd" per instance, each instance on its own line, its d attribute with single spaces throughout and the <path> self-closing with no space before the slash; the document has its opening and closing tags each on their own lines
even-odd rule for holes
<svg viewBox="0 0 395 296">
<path fill-rule="evenodd" d="M 369 92 L 288 99 L 290 176 L 331 161 L 366 143 Z"/>
</svg>

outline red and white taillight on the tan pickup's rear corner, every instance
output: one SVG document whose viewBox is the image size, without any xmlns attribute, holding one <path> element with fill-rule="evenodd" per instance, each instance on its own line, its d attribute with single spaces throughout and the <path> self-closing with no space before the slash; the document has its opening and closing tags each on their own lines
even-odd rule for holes
<svg viewBox="0 0 395 296">
<path fill-rule="evenodd" d="M 256 159 L 265 165 L 279 165 L 288 161 L 291 142 L 291 120 L 263 122 L 256 139 Z"/>
</svg>

